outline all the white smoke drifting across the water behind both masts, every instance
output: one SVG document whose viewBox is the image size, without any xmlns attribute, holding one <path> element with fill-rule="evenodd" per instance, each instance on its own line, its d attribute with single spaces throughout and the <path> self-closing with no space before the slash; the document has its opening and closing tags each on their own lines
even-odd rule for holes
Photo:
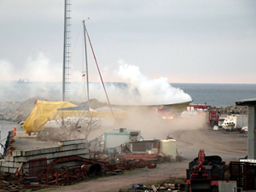
<svg viewBox="0 0 256 192">
<path fill-rule="evenodd" d="M 1 80 L 15 80 L 9 84 L 1 82 L 0 88 L 3 91 L 0 96 L 3 101 L 24 101 L 33 96 L 48 100 L 61 99 L 61 82 L 53 83 L 60 79 L 61 65 L 50 61 L 43 53 L 34 58 L 30 57 L 19 73 L 15 73 L 15 67 L 9 61 L 0 61 L 0 66 L 3 67 Z M 172 87 L 166 78 L 148 79 L 137 66 L 121 64 L 113 75 L 124 83 L 105 84 L 111 104 L 160 105 L 192 100 L 183 90 Z M 76 73 L 76 76 L 81 77 L 81 74 Z M 30 79 L 30 83 L 17 84 L 18 79 Z M 107 102 L 101 83 L 90 82 L 91 98 Z M 77 102 L 87 101 L 84 82 L 71 84 L 69 99 Z"/>
</svg>

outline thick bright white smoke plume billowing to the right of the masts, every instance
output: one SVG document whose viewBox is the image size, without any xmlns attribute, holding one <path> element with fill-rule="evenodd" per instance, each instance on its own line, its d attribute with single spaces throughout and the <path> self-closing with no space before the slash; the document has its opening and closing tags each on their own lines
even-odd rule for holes
<svg viewBox="0 0 256 192">
<path fill-rule="evenodd" d="M 166 78 L 148 79 L 137 66 L 124 64 L 115 73 L 127 84 L 127 89 L 115 92 L 116 104 L 160 105 L 192 100 L 183 90 L 172 87 Z"/>
</svg>

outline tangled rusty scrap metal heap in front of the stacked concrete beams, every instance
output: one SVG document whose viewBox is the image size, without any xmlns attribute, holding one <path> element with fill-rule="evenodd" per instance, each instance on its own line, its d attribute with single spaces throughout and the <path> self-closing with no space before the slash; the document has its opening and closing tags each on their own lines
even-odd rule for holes
<svg viewBox="0 0 256 192">
<path fill-rule="evenodd" d="M 70 163 L 78 162 L 76 166 Z M 30 174 L 20 174 L 23 163 L 20 163 L 15 174 L 0 174 L 0 190 L 19 191 L 20 189 L 42 189 L 55 185 L 65 185 L 77 182 L 85 177 L 100 173 L 117 174 L 124 170 L 156 167 L 156 160 L 125 160 L 119 163 L 113 160 L 92 160 L 79 156 L 68 156 L 53 160 L 47 165 L 46 158 L 29 160 Z"/>
</svg>

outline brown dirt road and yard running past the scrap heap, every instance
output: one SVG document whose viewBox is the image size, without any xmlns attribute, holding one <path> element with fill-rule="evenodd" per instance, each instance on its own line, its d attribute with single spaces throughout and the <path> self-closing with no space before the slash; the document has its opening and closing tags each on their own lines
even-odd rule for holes
<svg viewBox="0 0 256 192">
<path fill-rule="evenodd" d="M 190 125 L 189 127 L 192 126 Z M 157 131 L 153 132 L 156 134 L 159 131 L 164 131 L 164 128 L 158 127 Z M 137 169 L 117 176 L 99 177 L 88 182 L 81 182 L 53 190 L 56 192 L 118 191 L 121 188 L 128 189 L 135 183 L 162 181 L 170 177 L 185 177 L 189 161 L 195 159 L 200 148 L 205 149 L 206 155 L 219 155 L 226 163 L 231 160 L 238 160 L 247 154 L 247 136 L 237 131 L 213 131 L 210 128 L 199 127 L 196 129 L 173 129 L 172 131 L 164 131 L 164 133 L 162 137 L 168 133 L 177 140 L 177 148 L 183 153 L 185 158 L 183 162 L 163 163 L 157 165 L 155 169 Z"/>
</svg>

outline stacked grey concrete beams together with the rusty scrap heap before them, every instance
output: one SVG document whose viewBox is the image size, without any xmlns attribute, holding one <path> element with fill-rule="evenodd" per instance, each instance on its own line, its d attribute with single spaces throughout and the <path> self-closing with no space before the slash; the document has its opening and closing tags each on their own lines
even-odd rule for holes
<svg viewBox="0 0 256 192">
<path fill-rule="evenodd" d="M 21 133 L 24 131 L 9 131 L 0 160 L 0 189 L 41 189 L 75 183 L 98 174 L 116 175 L 124 170 L 156 167 L 157 159 L 116 161 L 102 153 L 97 157 L 104 158 L 96 159 L 85 139 L 52 143 Z M 90 159 L 92 156 L 95 159 Z"/>
</svg>

